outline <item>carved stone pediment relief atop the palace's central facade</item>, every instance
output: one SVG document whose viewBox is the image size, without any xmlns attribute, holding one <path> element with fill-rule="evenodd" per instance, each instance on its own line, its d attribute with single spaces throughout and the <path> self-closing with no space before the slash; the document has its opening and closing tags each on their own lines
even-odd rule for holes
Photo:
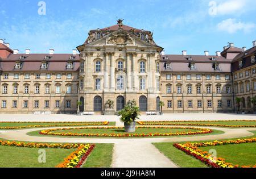
<svg viewBox="0 0 256 179">
<path fill-rule="evenodd" d="M 108 44 L 118 44 L 125 45 L 133 43 L 131 36 L 125 32 L 118 32 L 117 34 L 110 35 L 110 38 L 107 41 Z"/>
</svg>

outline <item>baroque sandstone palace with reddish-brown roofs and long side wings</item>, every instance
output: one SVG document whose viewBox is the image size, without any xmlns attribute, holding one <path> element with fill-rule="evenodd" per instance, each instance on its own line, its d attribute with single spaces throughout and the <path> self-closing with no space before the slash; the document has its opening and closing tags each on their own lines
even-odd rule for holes
<svg viewBox="0 0 256 179">
<path fill-rule="evenodd" d="M 150 31 L 118 24 L 91 30 L 71 54 L 19 53 L 0 39 L 0 113 L 101 114 L 135 99 L 141 111 L 232 113 L 254 111 L 256 41 L 253 47 L 224 47 L 216 55 L 165 55 Z"/>
</svg>

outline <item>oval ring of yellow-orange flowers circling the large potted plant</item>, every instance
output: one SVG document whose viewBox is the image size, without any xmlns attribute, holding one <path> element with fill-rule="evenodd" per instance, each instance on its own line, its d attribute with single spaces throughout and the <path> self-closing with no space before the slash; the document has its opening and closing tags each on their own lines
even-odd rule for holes
<svg viewBox="0 0 256 179">
<path fill-rule="evenodd" d="M 151 136 L 176 136 L 176 135 L 196 135 L 196 134 L 209 134 L 213 132 L 208 128 L 195 128 L 195 127 L 144 127 L 139 126 L 137 128 L 181 128 L 181 129 L 191 129 L 191 130 L 199 130 L 198 132 L 166 132 L 166 133 L 148 133 L 148 134 L 92 134 L 92 133 L 58 133 L 52 131 L 60 131 L 60 130 L 80 130 L 80 129 L 118 129 L 123 127 L 79 127 L 79 128 L 54 128 L 49 130 L 42 130 L 39 134 L 42 135 L 57 135 L 57 136 L 86 136 L 86 137 L 117 137 L 117 138 L 127 138 L 127 137 L 151 137 Z"/>
</svg>

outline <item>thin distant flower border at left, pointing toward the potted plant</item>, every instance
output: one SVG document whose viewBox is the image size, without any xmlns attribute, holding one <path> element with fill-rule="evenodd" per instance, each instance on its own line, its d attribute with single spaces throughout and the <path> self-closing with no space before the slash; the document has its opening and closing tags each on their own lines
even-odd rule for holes
<svg viewBox="0 0 256 179">
<path fill-rule="evenodd" d="M 19 128 L 36 128 L 36 127 L 62 127 L 62 126 L 108 126 L 109 122 L 0 122 L 0 123 L 64 123 L 52 125 L 30 125 L 30 126 L 15 126 L 15 127 L 0 127 L 1 129 L 14 130 Z M 76 123 L 76 124 L 68 124 Z"/>
</svg>

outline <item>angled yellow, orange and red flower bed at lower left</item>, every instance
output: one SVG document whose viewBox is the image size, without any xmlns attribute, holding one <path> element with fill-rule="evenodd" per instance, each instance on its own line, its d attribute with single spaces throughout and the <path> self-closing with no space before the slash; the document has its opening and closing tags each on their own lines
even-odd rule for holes
<svg viewBox="0 0 256 179">
<path fill-rule="evenodd" d="M 28 148 L 77 148 L 75 152 L 72 152 L 64 162 L 57 165 L 57 168 L 80 168 L 87 157 L 92 152 L 95 145 L 90 144 L 47 144 L 47 143 L 24 143 L 16 141 L 3 141 L 0 140 L 0 145 L 12 146 L 12 147 L 28 147 Z"/>
</svg>

